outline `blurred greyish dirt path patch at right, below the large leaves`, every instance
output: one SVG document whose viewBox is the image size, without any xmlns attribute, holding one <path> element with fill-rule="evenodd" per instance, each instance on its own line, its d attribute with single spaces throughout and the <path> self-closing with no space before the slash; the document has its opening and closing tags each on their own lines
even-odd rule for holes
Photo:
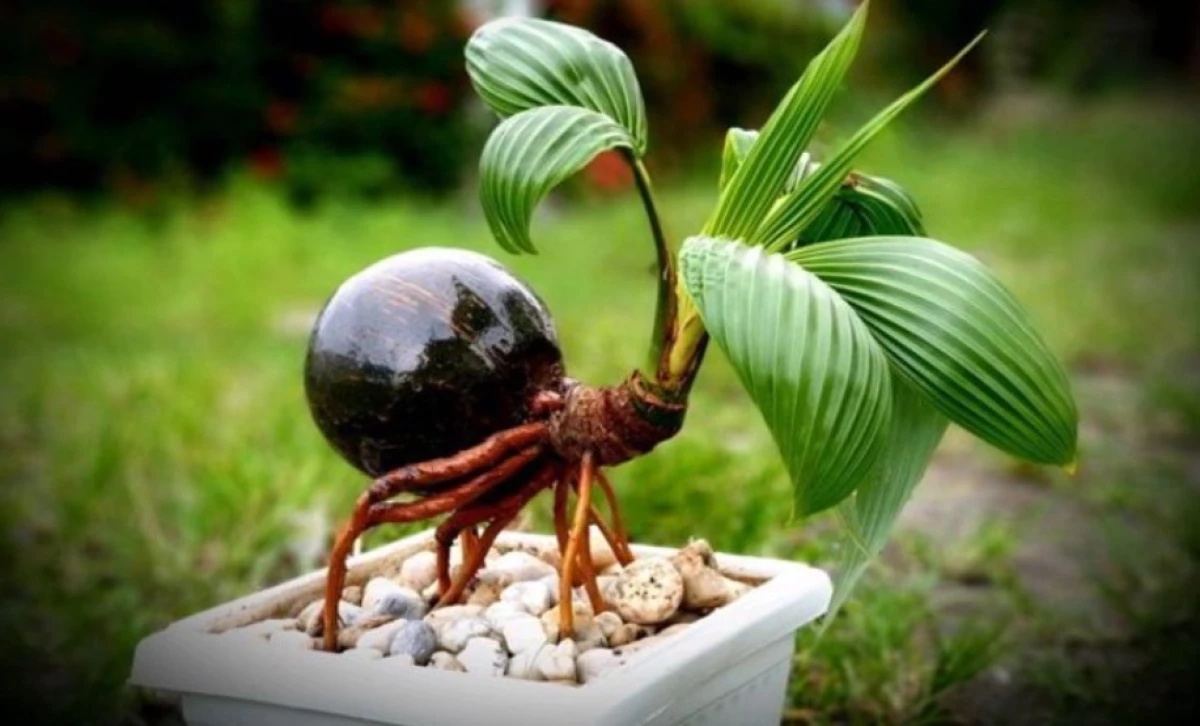
<svg viewBox="0 0 1200 726">
<path fill-rule="evenodd" d="M 1130 425 L 1130 409 L 1146 410 L 1130 402 L 1133 386 L 1100 377 L 1079 388 L 1093 403 L 1090 473 L 1050 485 L 952 439 L 898 527 L 942 560 L 932 605 L 946 628 L 1010 624 L 1000 662 L 944 700 L 959 722 L 1145 726 L 1200 715 L 1195 540 L 1165 524 L 1187 526 L 1171 509 L 1198 499 L 1200 452 Z"/>
</svg>

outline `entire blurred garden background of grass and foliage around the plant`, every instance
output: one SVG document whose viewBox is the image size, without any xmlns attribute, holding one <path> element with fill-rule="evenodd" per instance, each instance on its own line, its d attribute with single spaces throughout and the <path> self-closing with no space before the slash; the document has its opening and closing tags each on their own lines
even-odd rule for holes
<svg viewBox="0 0 1200 726">
<path fill-rule="evenodd" d="M 641 360 L 653 250 L 616 160 L 542 206 L 540 256 L 490 241 L 474 163 L 494 119 L 462 64 L 479 23 L 539 14 L 628 50 L 678 240 L 714 203 L 724 128 L 761 124 L 852 7 L 0 4 L 0 710 L 178 722 L 124 688 L 137 641 L 322 566 L 364 481 L 311 424 L 300 367 L 314 312 L 368 263 L 503 257 L 554 311 L 574 374 L 616 382 Z M 1082 469 L 952 430 L 854 600 L 800 636 L 790 722 L 1196 713 L 1200 12 L 877 0 L 818 149 L 982 28 L 860 168 L 1027 305 L 1072 372 Z M 684 432 L 614 476 L 637 540 L 835 556 L 829 522 L 788 521 L 769 434 L 716 350 Z"/>
</svg>

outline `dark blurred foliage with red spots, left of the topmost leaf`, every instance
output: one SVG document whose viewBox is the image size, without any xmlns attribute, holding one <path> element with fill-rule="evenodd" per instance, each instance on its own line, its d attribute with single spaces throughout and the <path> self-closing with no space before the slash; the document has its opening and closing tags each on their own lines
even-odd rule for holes
<svg viewBox="0 0 1200 726">
<path fill-rule="evenodd" d="M 209 179 L 311 196 L 444 188 L 463 164 L 469 18 L 438 0 L 204 0 L 0 10 L 0 188 Z"/>
</svg>

